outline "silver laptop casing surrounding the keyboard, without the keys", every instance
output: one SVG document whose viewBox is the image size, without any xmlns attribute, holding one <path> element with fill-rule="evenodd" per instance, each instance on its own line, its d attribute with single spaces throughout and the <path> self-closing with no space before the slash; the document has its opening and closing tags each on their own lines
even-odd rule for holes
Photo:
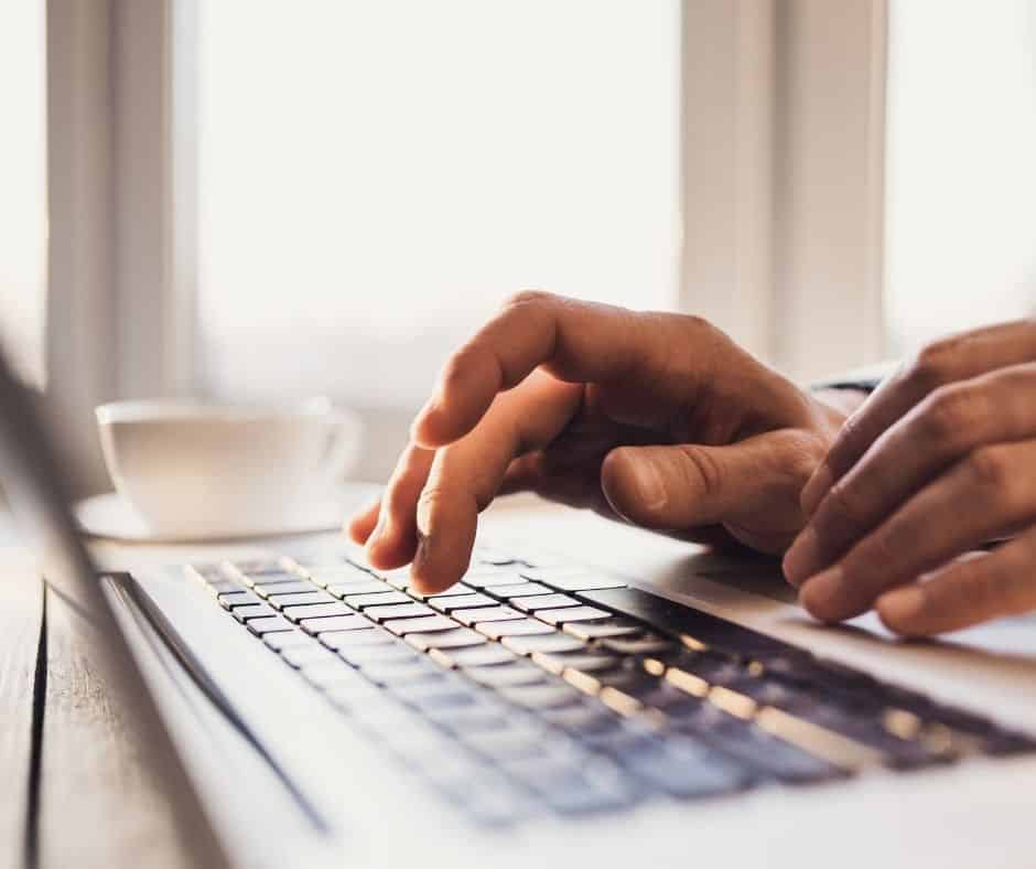
<svg viewBox="0 0 1036 869">
<path fill-rule="evenodd" d="M 174 797 L 199 866 L 223 865 L 227 855 L 248 866 L 1036 866 L 1036 760 L 1028 754 L 473 824 L 419 774 L 433 760 L 425 743 L 413 763 L 406 762 L 406 740 L 385 751 L 369 723 L 356 727 L 183 569 L 339 551 L 336 536 L 191 549 L 101 546 L 104 569 L 131 576 L 98 578 L 45 432 L 2 364 L 0 474 L 39 546 L 50 593 L 78 614 L 114 702 L 157 747 L 149 762 Z M 758 562 L 689 555 L 671 540 L 601 522 L 538 507 L 490 512 L 485 525 L 494 540 L 535 541 L 537 551 L 603 566 L 666 600 L 1036 730 L 1033 619 L 918 645 L 892 641 L 867 618 L 822 630 L 781 599 L 776 577 Z M 406 727 L 403 718 L 381 725 L 396 737 Z"/>
</svg>

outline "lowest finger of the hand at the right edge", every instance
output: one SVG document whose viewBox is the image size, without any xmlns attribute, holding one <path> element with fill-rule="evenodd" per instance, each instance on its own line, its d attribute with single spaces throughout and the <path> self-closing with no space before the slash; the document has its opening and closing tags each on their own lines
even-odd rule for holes
<svg viewBox="0 0 1036 869">
<path fill-rule="evenodd" d="M 957 561 L 925 582 L 889 591 L 877 612 L 907 636 L 959 631 L 1036 609 L 1036 533 L 1033 530 L 979 558 Z"/>
</svg>

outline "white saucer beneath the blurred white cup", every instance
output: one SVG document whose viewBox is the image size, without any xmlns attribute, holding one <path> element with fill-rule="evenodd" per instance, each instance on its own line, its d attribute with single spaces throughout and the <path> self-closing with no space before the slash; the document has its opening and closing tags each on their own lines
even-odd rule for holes
<svg viewBox="0 0 1036 869">
<path fill-rule="evenodd" d="M 233 533 L 213 528 L 212 534 L 204 536 L 152 532 L 132 505 L 116 492 L 85 498 L 75 505 L 74 513 L 79 527 L 91 537 L 128 543 L 204 543 L 336 530 L 352 513 L 377 497 L 380 491 L 381 486 L 375 483 L 348 483 L 293 516 L 291 523 L 280 528 L 235 528 Z"/>
</svg>

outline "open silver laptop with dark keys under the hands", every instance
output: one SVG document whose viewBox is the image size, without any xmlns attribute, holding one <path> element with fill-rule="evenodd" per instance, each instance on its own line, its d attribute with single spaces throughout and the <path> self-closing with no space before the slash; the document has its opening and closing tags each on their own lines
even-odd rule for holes
<svg viewBox="0 0 1036 869">
<path fill-rule="evenodd" d="M 0 483 L 198 865 L 1036 863 L 1032 618 L 824 629 L 765 559 L 541 505 L 438 596 L 338 535 L 101 571 L 2 362 Z"/>
</svg>

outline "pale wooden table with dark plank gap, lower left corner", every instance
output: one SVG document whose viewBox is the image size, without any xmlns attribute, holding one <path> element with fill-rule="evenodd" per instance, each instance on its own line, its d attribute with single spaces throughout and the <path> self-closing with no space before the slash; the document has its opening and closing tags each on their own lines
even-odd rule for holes
<svg viewBox="0 0 1036 869">
<path fill-rule="evenodd" d="M 0 568 L 0 869 L 209 862 L 2 519 Z"/>
</svg>

